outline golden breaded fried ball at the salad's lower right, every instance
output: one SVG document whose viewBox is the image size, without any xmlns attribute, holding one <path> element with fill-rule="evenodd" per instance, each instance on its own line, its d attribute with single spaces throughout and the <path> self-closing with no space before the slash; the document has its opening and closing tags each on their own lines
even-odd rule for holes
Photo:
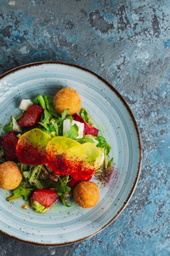
<svg viewBox="0 0 170 256">
<path fill-rule="evenodd" d="M 99 201 L 98 185 L 90 181 L 78 183 L 73 191 L 73 198 L 80 207 L 95 207 Z"/>
</svg>

